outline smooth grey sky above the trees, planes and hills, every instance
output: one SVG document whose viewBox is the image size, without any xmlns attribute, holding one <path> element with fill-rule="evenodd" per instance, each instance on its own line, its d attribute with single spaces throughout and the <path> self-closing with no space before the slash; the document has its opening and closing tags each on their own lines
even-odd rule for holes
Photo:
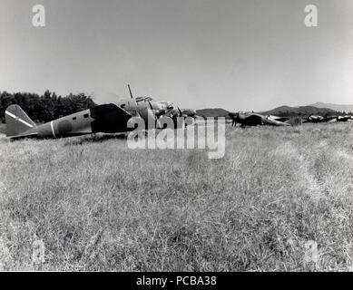
<svg viewBox="0 0 353 290">
<path fill-rule="evenodd" d="M 45 7 L 34 28 L 32 7 Z M 319 27 L 304 24 L 306 5 Z M 351 0 L 0 0 L 0 91 L 230 111 L 353 103 Z"/>
</svg>

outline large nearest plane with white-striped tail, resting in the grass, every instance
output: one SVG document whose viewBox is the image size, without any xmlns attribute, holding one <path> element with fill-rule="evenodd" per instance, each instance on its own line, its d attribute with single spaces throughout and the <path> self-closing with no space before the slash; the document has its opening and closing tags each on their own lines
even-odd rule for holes
<svg viewBox="0 0 353 290">
<path fill-rule="evenodd" d="M 162 116 L 171 117 L 175 126 L 178 117 L 186 117 L 172 102 L 155 102 L 150 97 L 133 98 L 130 85 L 129 92 L 131 98 L 117 104 L 99 105 L 41 125 L 36 125 L 20 106 L 11 105 L 5 111 L 6 136 L 10 139 L 63 138 L 98 132 L 122 133 L 134 130 L 128 126 L 132 117 L 141 117 L 146 126 L 153 124 L 154 128 L 162 129 Z"/>
</svg>

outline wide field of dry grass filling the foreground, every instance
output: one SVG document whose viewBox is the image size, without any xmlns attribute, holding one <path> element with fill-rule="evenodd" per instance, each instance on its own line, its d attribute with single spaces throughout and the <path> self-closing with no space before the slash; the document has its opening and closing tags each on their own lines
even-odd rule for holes
<svg viewBox="0 0 353 290">
<path fill-rule="evenodd" d="M 222 160 L 0 133 L 0 269 L 353 269 L 353 123 L 227 127 Z"/>
</svg>

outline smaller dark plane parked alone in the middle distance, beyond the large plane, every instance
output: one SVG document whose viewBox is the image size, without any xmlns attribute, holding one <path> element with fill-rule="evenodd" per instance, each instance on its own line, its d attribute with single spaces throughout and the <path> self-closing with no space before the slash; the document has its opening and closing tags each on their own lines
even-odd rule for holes
<svg viewBox="0 0 353 290">
<path fill-rule="evenodd" d="M 269 126 L 290 126 L 289 118 L 281 118 L 276 116 L 264 116 L 254 112 L 246 113 L 234 113 L 230 112 L 230 118 L 232 120 L 232 126 L 237 126 L 237 123 L 241 127 L 246 126 L 258 126 L 258 125 L 269 125 Z"/>
</svg>

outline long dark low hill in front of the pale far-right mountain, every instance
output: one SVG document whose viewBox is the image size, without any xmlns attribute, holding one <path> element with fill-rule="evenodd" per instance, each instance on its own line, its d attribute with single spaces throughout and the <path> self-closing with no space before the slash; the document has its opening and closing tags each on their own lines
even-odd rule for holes
<svg viewBox="0 0 353 290">
<path fill-rule="evenodd" d="M 339 115 L 338 111 L 328 109 L 328 108 L 317 108 L 314 106 L 301 106 L 301 107 L 289 107 L 281 106 L 270 111 L 260 112 L 264 115 L 276 115 L 281 117 L 291 117 L 291 116 L 309 116 L 309 115 Z"/>
</svg>

